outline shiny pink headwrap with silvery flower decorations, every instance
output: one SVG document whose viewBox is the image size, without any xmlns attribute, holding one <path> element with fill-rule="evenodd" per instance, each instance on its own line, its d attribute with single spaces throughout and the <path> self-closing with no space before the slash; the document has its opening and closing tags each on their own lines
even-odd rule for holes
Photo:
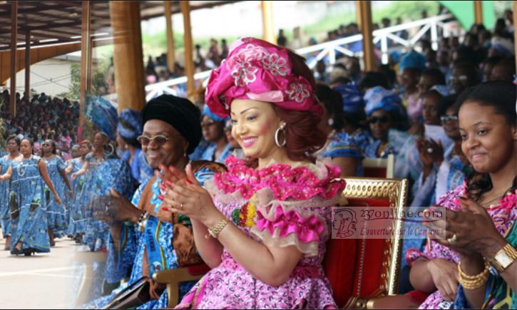
<svg viewBox="0 0 517 310">
<path fill-rule="evenodd" d="M 234 99 L 265 101 L 286 110 L 322 114 L 323 109 L 306 78 L 292 73 L 287 49 L 257 38 L 242 38 L 208 81 L 206 103 L 222 118 L 230 115 Z"/>
</svg>

